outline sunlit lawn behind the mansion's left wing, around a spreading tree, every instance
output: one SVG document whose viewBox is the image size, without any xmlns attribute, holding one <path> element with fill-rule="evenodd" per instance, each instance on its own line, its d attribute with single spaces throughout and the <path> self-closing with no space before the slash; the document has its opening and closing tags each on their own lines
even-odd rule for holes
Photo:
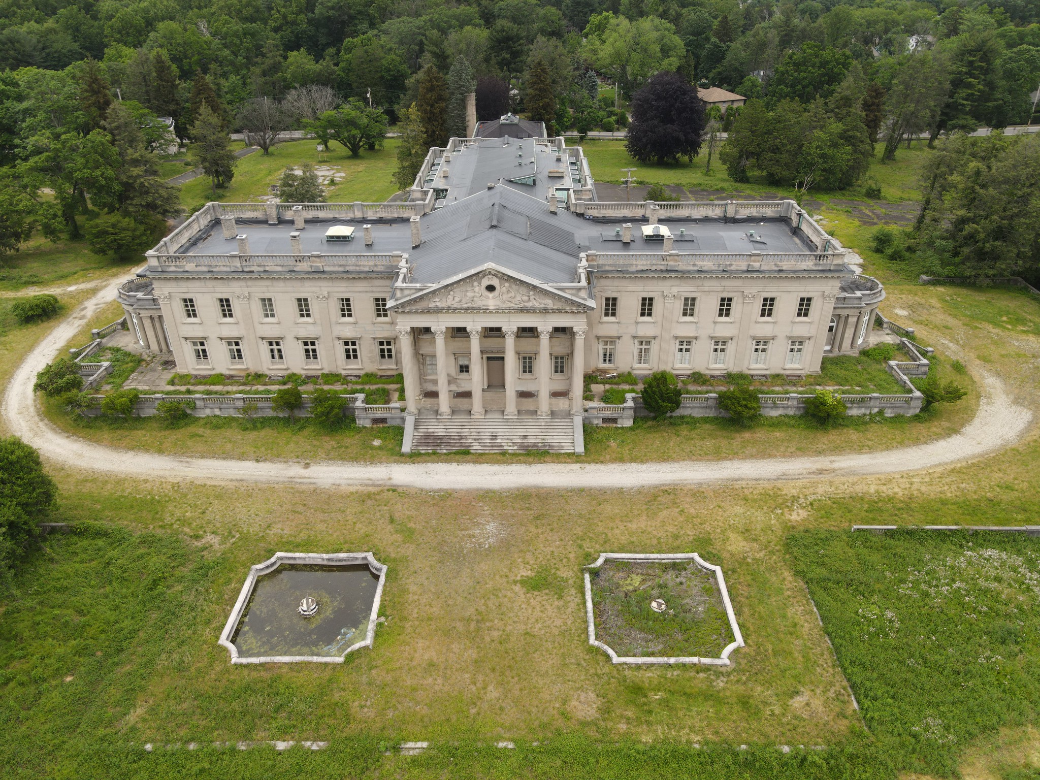
<svg viewBox="0 0 1040 780">
<path fill-rule="evenodd" d="M 315 167 L 329 166 L 346 175 L 343 181 L 326 193 L 326 201 L 330 203 L 385 201 L 397 191 L 392 181 L 397 168 L 397 144 L 396 138 L 387 138 L 383 149 L 374 152 L 364 150 L 360 157 L 350 157 L 350 153 L 338 144 L 333 146 L 331 152 L 319 153 L 313 138 L 278 144 L 271 147 L 270 154 L 258 151 L 238 160 L 231 184 L 217 189 L 215 196 L 205 177 L 182 185 L 181 203 L 190 210 L 213 200 L 232 203 L 256 201 L 270 193 L 270 185 L 278 183 L 286 167 L 303 162 L 310 162 Z M 235 142 L 232 146 L 237 150 L 244 145 Z"/>
</svg>

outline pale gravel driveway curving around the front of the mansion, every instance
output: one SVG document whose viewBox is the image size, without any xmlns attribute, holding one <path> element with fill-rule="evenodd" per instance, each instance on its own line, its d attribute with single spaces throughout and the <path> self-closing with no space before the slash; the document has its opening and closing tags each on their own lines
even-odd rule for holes
<svg viewBox="0 0 1040 780">
<path fill-rule="evenodd" d="M 69 466 L 112 474 L 142 474 L 196 482 L 283 483 L 313 487 L 387 485 L 424 489 L 638 488 L 718 482 L 765 482 L 891 474 L 946 466 L 1007 447 L 1029 427 L 1033 414 L 1008 397 L 999 379 L 984 374 L 984 395 L 974 418 L 959 433 L 912 447 L 813 458 L 667 463 L 354 464 L 233 461 L 178 458 L 93 444 L 48 422 L 36 407 L 36 372 L 83 323 L 108 304 L 124 280 L 110 283 L 77 308 L 25 357 L 11 378 L 0 414 L 10 433 L 45 458 Z"/>
</svg>

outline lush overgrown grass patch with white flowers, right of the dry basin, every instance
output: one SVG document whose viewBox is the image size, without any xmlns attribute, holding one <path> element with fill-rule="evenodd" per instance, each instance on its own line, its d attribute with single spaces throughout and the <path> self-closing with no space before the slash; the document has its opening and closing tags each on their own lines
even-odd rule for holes
<svg viewBox="0 0 1040 780">
<path fill-rule="evenodd" d="M 872 733 L 947 775 L 969 740 L 1040 714 L 1040 547 L 1007 534 L 790 537 Z"/>
</svg>

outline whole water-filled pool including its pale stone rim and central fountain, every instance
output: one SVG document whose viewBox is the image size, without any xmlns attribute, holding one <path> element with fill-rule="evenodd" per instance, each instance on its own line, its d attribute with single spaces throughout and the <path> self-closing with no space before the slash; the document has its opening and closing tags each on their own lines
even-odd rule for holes
<svg viewBox="0 0 1040 780">
<path fill-rule="evenodd" d="M 250 570 L 220 644 L 232 664 L 340 662 L 371 646 L 385 575 L 367 552 L 279 552 Z"/>
</svg>

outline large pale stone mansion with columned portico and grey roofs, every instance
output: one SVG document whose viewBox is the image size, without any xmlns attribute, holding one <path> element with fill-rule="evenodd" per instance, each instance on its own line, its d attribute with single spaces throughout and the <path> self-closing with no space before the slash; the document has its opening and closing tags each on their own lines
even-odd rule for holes
<svg viewBox="0 0 1040 780">
<path fill-rule="evenodd" d="M 569 420 L 588 372 L 818 372 L 884 297 L 792 201 L 606 203 L 563 138 L 452 138 L 407 196 L 207 204 L 127 322 L 193 374 L 399 372 L 413 415 Z"/>
</svg>

